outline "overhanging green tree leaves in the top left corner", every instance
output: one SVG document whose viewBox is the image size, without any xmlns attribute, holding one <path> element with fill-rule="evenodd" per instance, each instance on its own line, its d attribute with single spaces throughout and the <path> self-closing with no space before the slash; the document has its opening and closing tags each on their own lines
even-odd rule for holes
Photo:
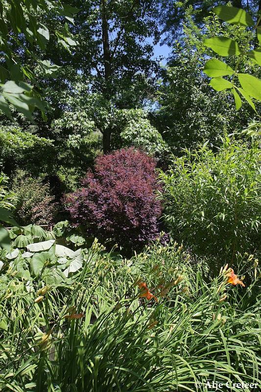
<svg viewBox="0 0 261 392">
<path fill-rule="evenodd" d="M 68 34 L 66 25 L 63 31 L 48 23 L 48 13 L 52 18 L 65 18 L 73 24 L 73 14 L 78 10 L 62 4 L 60 0 L 8 0 L 0 2 L 0 79 L 2 91 L 0 110 L 12 119 L 9 105 L 33 121 L 35 107 L 43 113 L 46 105 L 39 95 L 39 83 L 35 78 L 35 64 L 45 73 L 57 69 L 49 61 L 42 60 L 39 50 L 45 50 L 46 44 L 55 37 L 57 42 L 70 50 L 76 42 Z M 39 17 L 39 18 L 37 18 Z M 24 61 L 21 61 L 23 59 Z M 32 84 L 29 84 L 29 83 Z"/>
</svg>

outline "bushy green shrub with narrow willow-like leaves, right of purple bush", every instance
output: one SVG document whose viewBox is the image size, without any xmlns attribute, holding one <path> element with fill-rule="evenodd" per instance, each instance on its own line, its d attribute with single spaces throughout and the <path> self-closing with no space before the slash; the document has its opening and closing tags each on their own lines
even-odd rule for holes
<svg viewBox="0 0 261 392">
<path fill-rule="evenodd" d="M 237 252 L 260 253 L 261 150 L 225 137 L 184 149 L 160 173 L 165 220 L 171 234 L 197 254 L 234 262 Z"/>
</svg>

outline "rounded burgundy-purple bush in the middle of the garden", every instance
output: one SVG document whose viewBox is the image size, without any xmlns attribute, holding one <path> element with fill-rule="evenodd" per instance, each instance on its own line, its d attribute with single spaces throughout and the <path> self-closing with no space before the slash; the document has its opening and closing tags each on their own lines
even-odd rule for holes
<svg viewBox="0 0 261 392">
<path fill-rule="evenodd" d="M 88 172 L 82 188 L 67 198 L 74 224 L 126 250 L 156 239 L 162 207 L 155 166 L 153 158 L 134 148 L 98 157 L 94 173 Z"/>
</svg>

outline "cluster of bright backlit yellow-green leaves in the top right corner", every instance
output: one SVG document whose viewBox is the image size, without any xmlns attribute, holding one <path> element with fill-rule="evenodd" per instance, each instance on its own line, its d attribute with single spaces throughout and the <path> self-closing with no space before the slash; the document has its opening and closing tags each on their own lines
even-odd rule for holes
<svg viewBox="0 0 261 392">
<path fill-rule="evenodd" d="M 237 63 L 232 69 L 225 62 L 212 58 L 205 64 L 203 72 L 212 77 L 210 85 L 216 91 L 230 90 L 235 98 L 236 109 L 242 105 L 241 97 L 250 104 L 256 111 L 255 103 L 252 98 L 261 101 L 261 80 L 248 73 L 238 73 L 238 65 L 243 56 L 248 56 L 251 60 L 261 66 L 261 16 L 255 23 L 252 17 L 243 9 L 221 5 L 213 9 L 214 13 L 222 21 L 232 25 L 246 26 L 253 33 L 256 32 L 258 43 L 250 51 L 242 50 L 238 42 L 229 37 L 214 36 L 204 40 L 204 45 L 214 50 L 219 56 L 237 56 Z M 224 78 L 223 76 L 228 76 Z M 239 82 L 239 83 L 238 83 Z"/>
</svg>

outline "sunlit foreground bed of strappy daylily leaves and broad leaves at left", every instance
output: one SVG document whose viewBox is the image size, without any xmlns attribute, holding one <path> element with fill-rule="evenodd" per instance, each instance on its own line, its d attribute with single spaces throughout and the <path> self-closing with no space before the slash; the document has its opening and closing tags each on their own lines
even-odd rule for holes
<svg viewBox="0 0 261 392">
<path fill-rule="evenodd" d="M 228 266 L 207 283 L 177 244 L 127 260 L 97 242 L 76 252 L 59 245 L 63 227 L 14 228 L 11 251 L 1 251 L 1 391 L 203 392 L 210 377 L 258 384 L 253 264 L 248 287 L 228 282 Z"/>
</svg>

